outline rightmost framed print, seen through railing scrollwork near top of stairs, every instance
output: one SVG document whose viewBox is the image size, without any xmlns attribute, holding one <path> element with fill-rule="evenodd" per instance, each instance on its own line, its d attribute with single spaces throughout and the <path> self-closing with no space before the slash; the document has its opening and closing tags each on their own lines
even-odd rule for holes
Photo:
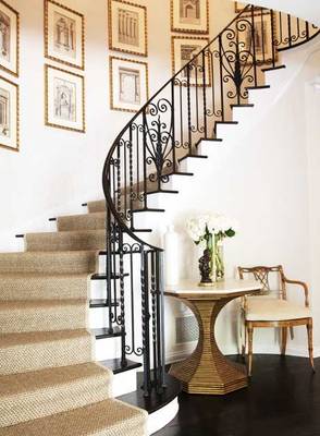
<svg viewBox="0 0 320 436">
<path fill-rule="evenodd" d="M 245 17 L 244 17 L 245 19 Z M 255 26 L 255 51 L 256 61 L 262 65 L 272 61 L 272 28 L 273 36 L 276 35 L 274 21 L 271 13 L 257 14 L 257 20 L 254 21 Z M 248 53 L 248 61 L 245 63 L 253 63 L 253 28 L 246 26 L 244 32 L 238 33 L 239 53 L 245 58 Z M 275 53 L 276 56 L 276 53 Z M 276 60 L 276 59 L 275 59 Z"/>
</svg>

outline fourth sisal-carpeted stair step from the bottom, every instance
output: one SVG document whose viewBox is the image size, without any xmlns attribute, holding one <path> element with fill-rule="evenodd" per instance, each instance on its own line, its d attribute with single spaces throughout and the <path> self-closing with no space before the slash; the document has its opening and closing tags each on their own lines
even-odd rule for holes
<svg viewBox="0 0 320 436">
<path fill-rule="evenodd" d="M 87 300 L 2 301 L 0 335 L 81 329 L 86 314 Z"/>
</svg>

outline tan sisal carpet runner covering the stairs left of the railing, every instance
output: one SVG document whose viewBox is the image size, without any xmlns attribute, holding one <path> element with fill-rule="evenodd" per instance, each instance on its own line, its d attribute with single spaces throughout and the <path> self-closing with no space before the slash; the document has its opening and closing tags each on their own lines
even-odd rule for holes
<svg viewBox="0 0 320 436">
<path fill-rule="evenodd" d="M 112 398 L 94 362 L 90 276 L 104 249 L 104 202 L 0 254 L 0 436 L 144 436 L 147 413 Z"/>
</svg>

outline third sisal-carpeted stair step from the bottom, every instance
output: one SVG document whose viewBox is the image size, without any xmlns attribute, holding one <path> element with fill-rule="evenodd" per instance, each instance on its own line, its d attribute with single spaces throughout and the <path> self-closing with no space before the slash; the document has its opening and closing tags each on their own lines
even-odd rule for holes
<svg viewBox="0 0 320 436">
<path fill-rule="evenodd" d="M 0 374 L 89 362 L 93 341 L 85 329 L 1 335 Z"/>
</svg>

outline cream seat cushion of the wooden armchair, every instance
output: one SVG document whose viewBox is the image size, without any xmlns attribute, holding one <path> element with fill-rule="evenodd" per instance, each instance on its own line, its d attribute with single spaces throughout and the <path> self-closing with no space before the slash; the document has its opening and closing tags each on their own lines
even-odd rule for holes
<svg viewBox="0 0 320 436">
<path fill-rule="evenodd" d="M 288 320 L 311 317 L 308 307 L 266 296 L 249 296 L 246 306 L 247 320 Z"/>
</svg>

